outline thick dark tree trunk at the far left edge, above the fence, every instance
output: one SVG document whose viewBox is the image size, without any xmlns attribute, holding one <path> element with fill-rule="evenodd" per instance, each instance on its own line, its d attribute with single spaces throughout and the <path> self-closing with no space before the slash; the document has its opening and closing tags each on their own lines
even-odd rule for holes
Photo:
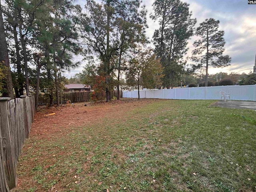
<svg viewBox="0 0 256 192">
<path fill-rule="evenodd" d="M 13 94 L 13 86 L 12 86 L 12 75 L 10 70 L 9 64 L 9 57 L 8 57 L 8 50 L 7 50 L 7 43 L 4 31 L 4 21 L 2 16 L 2 6 L 0 2 L 0 62 L 3 66 L 6 66 L 4 73 L 6 75 L 6 79 L 4 80 L 4 91 L 2 92 L 3 97 L 10 97 L 11 99 L 14 98 Z"/>
</svg>

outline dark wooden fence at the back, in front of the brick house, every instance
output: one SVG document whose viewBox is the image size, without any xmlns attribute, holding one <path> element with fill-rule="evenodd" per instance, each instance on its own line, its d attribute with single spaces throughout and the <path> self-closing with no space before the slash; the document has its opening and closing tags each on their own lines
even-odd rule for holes
<svg viewBox="0 0 256 192">
<path fill-rule="evenodd" d="M 66 104 L 67 102 L 71 103 L 77 103 L 77 102 L 88 102 L 90 101 L 90 93 L 89 91 L 86 92 L 68 92 L 68 93 L 63 93 L 61 95 L 61 103 Z M 122 97 L 122 91 L 119 91 L 120 97 Z M 105 98 L 106 97 L 106 92 L 102 93 L 97 93 L 97 96 L 100 98 Z M 117 97 L 117 91 L 114 90 L 112 92 L 112 96 Z M 38 98 L 38 105 L 48 105 L 49 104 L 49 97 L 44 97 L 42 95 L 39 96 Z M 54 100 L 54 104 L 57 104 L 56 99 Z"/>
</svg>

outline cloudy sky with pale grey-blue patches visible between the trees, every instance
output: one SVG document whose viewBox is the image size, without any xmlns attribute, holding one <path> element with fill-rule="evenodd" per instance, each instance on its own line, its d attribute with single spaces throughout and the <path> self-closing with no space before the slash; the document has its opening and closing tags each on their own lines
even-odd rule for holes
<svg viewBox="0 0 256 192">
<path fill-rule="evenodd" d="M 248 0 L 182 0 L 190 4 L 192 17 L 197 19 L 195 27 L 207 18 L 220 20 L 220 30 L 224 30 L 225 52 L 232 60 L 230 66 L 224 68 L 209 68 L 209 74 L 219 72 L 238 72 L 249 73 L 253 70 L 256 57 L 256 4 L 248 4 Z M 84 6 L 84 0 L 78 0 L 81 6 Z M 149 18 L 153 12 L 152 4 L 154 0 L 142 0 L 142 4 L 146 5 L 148 10 L 147 23 L 148 28 L 146 35 L 151 40 L 154 30 L 159 28 L 158 22 L 154 22 Z M 186 57 L 191 56 L 194 49 L 193 42 L 196 36 L 188 41 L 188 53 Z M 81 66 L 70 72 L 66 72 L 65 76 L 70 77 L 81 72 L 85 62 L 82 62 L 82 56 L 75 56 L 75 61 L 81 61 Z M 188 60 L 188 64 L 192 61 Z"/>
</svg>

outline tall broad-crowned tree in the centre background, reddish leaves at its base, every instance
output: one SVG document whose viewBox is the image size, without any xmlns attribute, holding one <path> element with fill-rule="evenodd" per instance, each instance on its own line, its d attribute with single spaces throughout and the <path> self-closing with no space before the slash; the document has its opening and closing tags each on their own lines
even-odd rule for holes
<svg viewBox="0 0 256 192">
<path fill-rule="evenodd" d="M 140 0 L 106 0 L 101 4 L 94 0 L 88 0 L 86 3 L 86 14 L 79 12 L 82 20 L 81 31 L 86 31 L 84 35 L 84 44 L 86 54 L 96 53 L 100 59 L 99 75 L 105 76 L 106 80 L 106 101 L 110 100 L 110 90 L 113 89 L 113 71 L 116 67 L 116 56 L 125 51 L 125 42 L 131 38 L 132 31 L 140 29 L 142 26 L 136 26 L 140 22 L 145 22 L 140 17 Z M 144 8 L 142 8 L 142 12 Z M 134 15 L 134 16 L 133 16 Z M 142 14 L 143 15 L 143 14 Z M 125 19 L 124 19 L 125 18 Z M 133 37 L 136 37 L 136 32 Z M 120 63 L 120 62 L 119 62 Z"/>
</svg>

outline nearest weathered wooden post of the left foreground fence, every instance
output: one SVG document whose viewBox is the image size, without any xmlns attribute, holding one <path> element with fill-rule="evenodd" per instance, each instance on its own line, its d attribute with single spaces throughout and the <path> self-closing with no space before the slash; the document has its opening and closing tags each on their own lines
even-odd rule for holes
<svg viewBox="0 0 256 192">
<path fill-rule="evenodd" d="M 17 175 L 16 167 L 14 164 L 14 146 L 12 142 L 10 132 L 10 121 L 9 121 L 9 104 L 10 98 L 0 98 L 0 127 L 2 135 L 2 150 L 3 156 L 1 155 L 2 163 L 4 164 L 4 171 L 6 174 L 6 180 L 10 189 L 16 187 Z M 2 178 L 0 178 L 2 179 Z"/>
</svg>

